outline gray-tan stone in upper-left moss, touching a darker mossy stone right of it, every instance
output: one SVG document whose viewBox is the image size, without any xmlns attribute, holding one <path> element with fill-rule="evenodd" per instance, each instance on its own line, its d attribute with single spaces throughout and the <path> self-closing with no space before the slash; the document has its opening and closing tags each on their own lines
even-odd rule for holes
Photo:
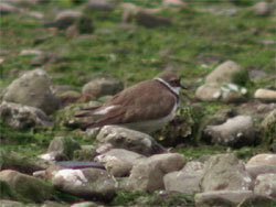
<svg viewBox="0 0 276 207">
<path fill-rule="evenodd" d="M 70 25 L 74 24 L 82 17 L 83 13 L 79 11 L 73 11 L 73 10 L 61 11 L 55 17 L 54 24 L 59 29 L 66 29 Z"/>
</svg>

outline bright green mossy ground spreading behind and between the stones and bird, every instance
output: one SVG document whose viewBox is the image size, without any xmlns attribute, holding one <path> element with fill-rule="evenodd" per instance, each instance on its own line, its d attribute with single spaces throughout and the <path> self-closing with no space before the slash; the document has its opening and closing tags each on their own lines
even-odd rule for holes
<svg viewBox="0 0 276 207">
<path fill-rule="evenodd" d="M 84 0 L 85 1 L 85 0 Z M 265 76 L 252 80 L 248 85 L 253 90 L 258 87 L 275 88 L 275 44 L 264 45 L 262 41 L 276 41 L 275 17 L 256 17 L 246 10 L 258 0 L 235 1 L 192 1 L 189 10 L 179 12 L 162 11 L 172 25 L 168 28 L 147 29 L 130 22 L 129 29 L 123 28 L 123 9 L 117 7 L 110 13 L 86 12 L 94 20 L 95 31 L 92 36 L 67 37 L 64 31 L 46 28 L 41 20 L 28 15 L 28 12 L 40 11 L 46 21 L 53 20 L 54 8 L 57 10 L 78 10 L 83 3 L 73 0 L 53 0 L 50 3 L 30 6 L 28 12 L 2 15 L 0 88 L 7 87 L 18 76 L 10 75 L 12 69 L 20 72 L 33 69 L 34 56 L 21 56 L 20 52 L 35 48 L 53 53 L 55 59 L 43 65 L 52 77 L 54 85 L 70 85 L 81 90 L 95 73 L 108 73 L 121 79 L 125 87 L 140 80 L 149 79 L 158 73 L 170 68 L 180 74 L 190 89 L 185 95 L 194 101 L 194 90 L 200 81 L 220 63 L 232 59 L 245 68 L 262 70 Z M 161 0 L 119 0 L 137 6 L 155 8 Z M 205 8 L 243 8 L 236 15 L 217 15 L 200 12 Z M 43 40 L 43 41 L 40 41 Z M 243 79 L 241 79 L 242 83 Z M 244 84 L 244 83 L 242 83 Z M 224 103 L 200 103 L 205 115 L 232 108 Z M 54 116 L 52 117 L 54 119 Z M 45 152 L 55 135 L 74 137 L 81 143 L 92 144 L 68 129 L 31 129 L 14 131 L 1 122 L 1 148 L 35 156 Z M 73 134 L 73 135 L 72 135 Z M 192 138 L 197 144 L 190 143 L 179 150 L 190 159 L 202 155 L 233 151 L 222 146 L 199 144 L 199 133 Z M 248 159 L 256 152 L 266 151 L 262 148 L 244 148 L 234 152 L 241 159 Z M 123 196 L 124 198 L 124 196 Z M 116 203 L 116 204 L 119 204 Z"/>
</svg>

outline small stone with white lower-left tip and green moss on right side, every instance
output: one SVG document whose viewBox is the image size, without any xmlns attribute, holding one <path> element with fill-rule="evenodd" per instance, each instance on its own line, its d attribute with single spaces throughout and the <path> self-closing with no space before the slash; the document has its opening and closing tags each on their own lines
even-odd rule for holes
<svg viewBox="0 0 276 207">
<path fill-rule="evenodd" d="M 47 152 L 39 155 L 39 157 L 45 161 L 66 161 L 73 157 L 74 151 L 79 150 L 81 145 L 71 138 L 56 137 L 54 138 Z"/>
</svg>

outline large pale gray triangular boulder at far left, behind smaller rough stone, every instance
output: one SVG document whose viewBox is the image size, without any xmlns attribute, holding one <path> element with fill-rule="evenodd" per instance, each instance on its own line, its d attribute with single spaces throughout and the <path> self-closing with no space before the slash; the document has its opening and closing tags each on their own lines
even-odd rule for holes
<svg viewBox="0 0 276 207">
<path fill-rule="evenodd" d="M 25 73 L 6 89 L 3 100 L 40 108 L 46 113 L 60 107 L 60 98 L 52 91 L 50 76 L 42 69 Z"/>
</svg>

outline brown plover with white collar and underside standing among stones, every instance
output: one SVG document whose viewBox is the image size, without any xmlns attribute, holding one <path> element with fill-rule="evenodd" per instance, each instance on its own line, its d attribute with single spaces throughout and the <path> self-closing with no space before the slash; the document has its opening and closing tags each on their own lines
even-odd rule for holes
<svg viewBox="0 0 276 207">
<path fill-rule="evenodd" d="M 174 118 L 180 89 L 187 88 L 177 74 L 162 73 L 126 88 L 100 107 L 82 109 L 75 117 L 87 120 L 86 129 L 115 124 L 150 133 Z"/>
</svg>

